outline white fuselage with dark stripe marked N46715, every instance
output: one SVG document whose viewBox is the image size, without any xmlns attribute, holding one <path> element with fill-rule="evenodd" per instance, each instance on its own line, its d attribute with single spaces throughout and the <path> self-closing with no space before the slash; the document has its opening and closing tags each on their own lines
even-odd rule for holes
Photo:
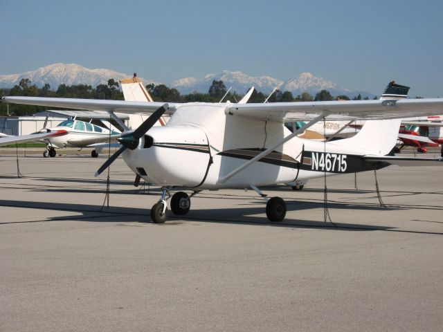
<svg viewBox="0 0 443 332">
<path fill-rule="evenodd" d="M 203 103 L 179 107 L 165 127 L 153 127 L 136 149 L 123 152 L 125 163 L 156 185 L 209 190 L 373 169 L 361 158 L 368 151 L 346 146 L 345 140 L 325 143 L 294 137 L 219 183 L 233 169 L 291 134 L 281 122 L 230 116 L 226 109 L 226 105 Z"/>
</svg>

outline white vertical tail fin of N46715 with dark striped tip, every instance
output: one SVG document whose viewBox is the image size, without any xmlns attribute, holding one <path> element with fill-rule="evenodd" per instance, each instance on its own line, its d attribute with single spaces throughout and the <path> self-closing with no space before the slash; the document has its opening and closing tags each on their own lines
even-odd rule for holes
<svg viewBox="0 0 443 332">
<path fill-rule="evenodd" d="M 380 99 L 404 99 L 408 97 L 409 86 L 396 84 L 394 81 L 386 86 Z M 399 135 L 401 119 L 368 120 L 359 133 L 352 138 L 339 140 L 338 144 L 360 147 L 370 154 L 386 155 L 395 147 Z"/>
</svg>

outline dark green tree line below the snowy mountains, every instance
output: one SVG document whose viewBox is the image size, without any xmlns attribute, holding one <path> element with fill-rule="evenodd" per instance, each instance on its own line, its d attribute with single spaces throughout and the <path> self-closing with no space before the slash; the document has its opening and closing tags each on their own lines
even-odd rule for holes
<svg viewBox="0 0 443 332">
<path fill-rule="evenodd" d="M 219 102 L 224 97 L 224 101 L 237 102 L 242 99 L 243 95 L 237 92 L 227 92 L 226 86 L 221 80 L 213 80 L 208 93 L 192 92 L 187 95 L 181 95 L 177 89 L 169 88 L 165 84 L 147 84 L 147 91 L 152 95 L 156 102 Z M 55 97 L 55 98 L 84 98 L 84 99 L 107 99 L 107 100 L 124 100 L 123 92 L 120 91 L 118 82 L 114 79 L 109 79 L 107 84 L 99 84 L 95 88 L 87 84 L 76 84 L 68 86 L 60 84 L 57 90 L 52 90 L 49 84 L 44 84 L 42 88 L 38 88 L 35 84 L 31 84 L 28 78 L 20 80 L 19 84 L 12 89 L 0 89 L 0 94 L 5 95 L 24 95 L 31 97 Z M 264 102 L 268 98 L 268 102 L 310 102 L 323 100 L 350 100 L 346 95 L 332 96 L 327 90 L 322 90 L 316 95 L 303 92 L 294 97 L 291 91 L 275 90 L 272 95 L 265 95 L 260 91 L 253 91 L 248 102 Z M 353 98 L 354 100 L 369 99 L 362 98 L 361 95 Z M 374 98 L 374 99 L 377 99 Z M 9 104 L 9 109 L 6 103 L 1 103 L 0 115 L 6 116 L 24 116 L 30 115 L 39 111 L 46 110 L 47 107 Z"/>
</svg>

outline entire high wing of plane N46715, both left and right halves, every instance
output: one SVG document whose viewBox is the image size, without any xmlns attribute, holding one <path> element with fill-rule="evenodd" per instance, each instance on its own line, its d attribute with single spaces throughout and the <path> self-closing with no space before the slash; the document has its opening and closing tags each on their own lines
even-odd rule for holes
<svg viewBox="0 0 443 332">
<path fill-rule="evenodd" d="M 116 111 L 121 113 L 152 112 L 163 102 L 127 102 L 123 100 L 92 100 L 75 98 L 3 97 L 15 104 L 29 104 L 89 111 Z M 166 104 L 165 113 L 171 114 L 181 104 Z M 306 121 L 320 116 L 328 120 L 381 120 L 412 118 L 443 113 L 443 99 L 350 100 L 331 102 L 275 102 L 266 104 L 227 104 L 226 113 L 255 120 Z"/>
</svg>

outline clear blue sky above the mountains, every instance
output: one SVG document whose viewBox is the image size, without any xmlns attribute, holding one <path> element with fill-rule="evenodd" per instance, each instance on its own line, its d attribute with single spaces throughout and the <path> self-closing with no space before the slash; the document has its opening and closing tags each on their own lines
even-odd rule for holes
<svg viewBox="0 0 443 332">
<path fill-rule="evenodd" d="M 165 84 L 302 72 L 380 94 L 443 97 L 443 1 L 0 0 L 0 75 L 55 62 Z"/>
</svg>

